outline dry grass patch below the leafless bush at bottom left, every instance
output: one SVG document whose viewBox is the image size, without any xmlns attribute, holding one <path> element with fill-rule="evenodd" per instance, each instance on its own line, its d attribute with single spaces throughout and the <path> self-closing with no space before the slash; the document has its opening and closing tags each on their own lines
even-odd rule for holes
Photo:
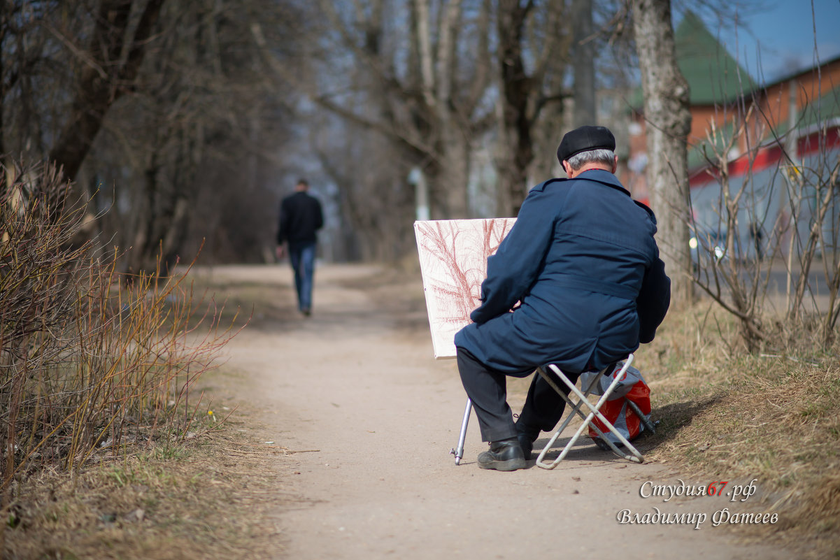
<svg viewBox="0 0 840 560">
<path fill-rule="evenodd" d="M 270 514 L 289 454 L 237 411 L 225 432 L 134 449 L 76 477 L 42 472 L 18 489 L 4 558 L 269 558 L 282 540 Z M 247 431 L 239 432 L 245 429 Z"/>
</svg>

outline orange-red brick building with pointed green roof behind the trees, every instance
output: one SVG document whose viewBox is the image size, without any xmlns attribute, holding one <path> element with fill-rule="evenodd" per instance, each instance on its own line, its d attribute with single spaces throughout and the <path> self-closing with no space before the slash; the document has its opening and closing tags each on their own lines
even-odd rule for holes
<svg viewBox="0 0 840 560">
<path fill-rule="evenodd" d="M 693 13 L 675 30 L 677 59 L 690 86 L 689 169 L 694 190 L 716 181 L 709 160 L 725 156 L 732 176 L 840 147 L 840 58 L 756 84 Z M 631 114 L 622 182 L 648 197 L 641 97 Z M 795 148 L 795 149 L 794 149 Z"/>
</svg>

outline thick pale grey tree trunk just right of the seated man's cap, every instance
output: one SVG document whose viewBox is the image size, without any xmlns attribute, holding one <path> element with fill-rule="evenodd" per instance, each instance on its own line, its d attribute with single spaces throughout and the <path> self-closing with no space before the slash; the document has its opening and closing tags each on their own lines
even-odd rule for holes
<svg viewBox="0 0 840 560">
<path fill-rule="evenodd" d="M 687 138 L 689 87 L 677 66 L 670 0 L 631 0 L 647 123 L 648 192 L 675 302 L 691 300 Z"/>
</svg>

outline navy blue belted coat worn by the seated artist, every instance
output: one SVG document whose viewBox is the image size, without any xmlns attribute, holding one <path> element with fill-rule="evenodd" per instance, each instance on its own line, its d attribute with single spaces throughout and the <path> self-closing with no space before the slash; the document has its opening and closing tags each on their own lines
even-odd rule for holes
<svg viewBox="0 0 840 560">
<path fill-rule="evenodd" d="M 608 171 L 535 186 L 487 260 L 482 303 L 455 345 L 507 374 L 623 358 L 653 340 L 669 306 L 654 233 L 653 212 Z"/>
</svg>

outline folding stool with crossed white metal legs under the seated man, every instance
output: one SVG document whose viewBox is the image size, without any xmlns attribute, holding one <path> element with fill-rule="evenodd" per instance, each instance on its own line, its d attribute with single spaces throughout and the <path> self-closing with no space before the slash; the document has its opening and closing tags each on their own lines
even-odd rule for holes
<svg viewBox="0 0 840 560">
<path fill-rule="evenodd" d="M 616 388 L 616 386 L 618 385 L 618 383 L 622 380 L 622 378 L 624 377 L 624 374 L 627 372 L 627 368 L 630 367 L 631 363 L 633 363 L 633 354 L 632 353 L 627 355 L 627 359 L 624 360 L 624 365 L 622 366 L 622 369 L 620 369 L 617 372 L 617 374 L 613 375 L 612 382 L 606 388 L 603 395 L 601 395 L 601 398 L 598 399 L 598 401 L 595 405 L 593 405 L 587 397 L 593 391 L 600 388 L 601 377 L 603 377 L 604 375 L 612 374 L 612 372 L 615 369 L 616 364 L 610 364 L 606 368 L 601 369 L 601 371 L 599 371 L 597 375 L 594 375 L 592 377 L 592 379 L 589 383 L 589 386 L 586 387 L 585 392 L 582 392 L 582 393 L 580 392 L 580 390 L 578 390 L 577 387 L 575 387 L 575 384 L 572 383 L 569 380 L 569 378 L 566 377 L 566 375 L 563 373 L 563 371 L 561 369 L 559 369 L 556 365 L 549 364 L 545 368 L 538 368 L 537 369 L 538 374 L 543 376 L 543 379 L 545 379 L 546 383 L 548 383 L 549 386 L 551 386 L 552 389 L 557 391 L 559 393 L 559 395 L 561 397 L 563 397 L 563 400 L 565 400 L 566 403 L 568 403 L 569 406 L 572 407 L 572 410 L 570 411 L 569 415 L 566 416 L 566 419 L 560 425 L 557 432 L 554 432 L 554 436 L 552 436 L 551 439 L 549 440 L 549 442 L 545 444 L 545 447 L 543 447 L 543 451 L 541 453 L 539 453 L 539 457 L 537 458 L 537 466 L 538 467 L 541 467 L 541 468 L 554 468 L 554 467 L 556 467 L 557 464 L 560 461 L 562 461 L 565 458 L 565 456 L 569 453 L 572 446 L 575 445 L 575 442 L 577 442 L 578 437 L 580 437 L 580 434 L 582 434 L 583 431 L 587 427 L 590 427 L 590 426 L 593 429 L 595 429 L 595 431 L 598 433 L 599 436 L 601 436 L 601 441 L 605 442 L 606 445 L 608 445 L 612 449 L 612 451 L 614 453 L 616 453 L 619 457 L 625 458 L 628 461 L 633 461 L 634 463 L 642 463 L 643 462 L 644 459 L 642 457 L 642 453 L 638 453 L 638 449 L 636 449 L 636 447 L 633 447 L 633 445 L 631 445 L 631 443 L 627 441 L 627 438 L 624 437 L 621 432 L 618 432 L 616 427 L 614 427 L 612 425 L 612 422 L 608 421 L 606 419 L 606 417 L 601 414 L 601 406 L 603 406 L 603 404 L 607 400 L 609 400 L 610 395 L 612 394 L 612 390 L 614 390 Z M 546 372 L 546 369 L 550 369 L 555 375 L 557 375 L 558 379 L 560 379 L 564 383 L 564 385 L 569 387 L 570 395 L 566 395 L 564 393 L 564 391 L 561 390 L 556 383 L 554 383 L 554 379 L 551 379 L 551 376 Z M 572 394 L 574 394 L 577 397 L 577 399 L 578 399 L 577 402 L 572 400 L 572 396 L 571 396 Z M 586 406 L 590 409 L 590 412 L 589 412 L 588 415 L 585 415 L 583 413 L 583 411 L 580 410 L 583 406 Z M 575 435 L 569 440 L 569 442 L 566 443 L 565 447 L 563 447 L 563 451 L 561 451 L 559 456 L 554 459 L 554 462 L 552 462 L 552 463 L 544 462 L 543 458 L 545 458 L 545 454 L 549 452 L 549 449 L 551 448 L 551 446 L 553 446 L 554 442 L 557 441 L 557 438 L 560 436 L 560 433 L 562 433 L 566 429 L 566 427 L 569 426 L 569 423 L 572 420 L 572 418 L 575 417 L 575 414 L 577 416 L 580 416 L 581 418 L 583 418 L 583 422 L 580 424 L 580 427 L 578 427 L 577 432 L 575 432 Z M 603 425 L 610 432 L 615 434 L 615 436 L 618 438 L 618 441 L 622 442 L 622 444 L 627 449 L 627 451 L 629 451 L 632 454 L 623 453 L 616 446 L 615 443 L 611 442 L 609 440 L 609 438 L 604 437 L 604 432 L 601 432 L 601 429 L 599 427 L 597 427 L 596 424 L 592 423 L 592 421 L 596 417 L 598 418 L 598 420 L 600 420 L 603 423 Z M 643 416 L 640 416 L 640 418 L 643 418 Z"/>
</svg>

